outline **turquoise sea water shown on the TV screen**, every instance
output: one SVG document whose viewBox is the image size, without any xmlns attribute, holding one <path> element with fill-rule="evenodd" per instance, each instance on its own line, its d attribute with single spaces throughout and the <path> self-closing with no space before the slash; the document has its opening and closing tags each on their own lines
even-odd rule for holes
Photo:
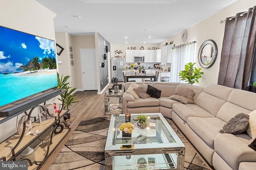
<svg viewBox="0 0 256 170">
<path fill-rule="evenodd" d="M 15 74 L 0 74 L 0 106 L 58 85 L 55 70 L 30 71 Z"/>
</svg>

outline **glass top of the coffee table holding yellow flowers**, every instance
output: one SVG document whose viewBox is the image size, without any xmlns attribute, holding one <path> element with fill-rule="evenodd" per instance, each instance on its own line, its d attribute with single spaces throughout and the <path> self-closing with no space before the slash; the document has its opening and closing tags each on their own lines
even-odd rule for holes
<svg viewBox="0 0 256 170">
<path fill-rule="evenodd" d="M 105 150 L 184 147 L 161 113 L 144 113 L 148 121 L 145 129 L 138 127 L 137 115 L 112 115 Z M 158 118 L 153 118 L 155 116 Z M 120 126 L 127 122 L 134 127 L 130 134 L 120 130 Z"/>
</svg>

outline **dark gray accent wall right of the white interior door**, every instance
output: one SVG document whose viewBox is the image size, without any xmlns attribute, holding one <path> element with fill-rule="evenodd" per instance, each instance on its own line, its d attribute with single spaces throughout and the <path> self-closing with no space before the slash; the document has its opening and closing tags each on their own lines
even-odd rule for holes
<svg viewBox="0 0 256 170">
<path fill-rule="evenodd" d="M 105 41 L 105 45 L 103 44 Z M 105 47 L 108 46 L 108 51 L 110 50 L 110 43 L 104 39 L 98 33 L 98 50 L 99 50 L 99 63 L 104 63 L 105 66 L 102 68 L 100 66 L 100 91 L 102 91 L 108 85 L 108 59 L 104 60 L 104 54 L 107 55 Z M 98 64 L 99 64 L 98 63 Z"/>
</svg>

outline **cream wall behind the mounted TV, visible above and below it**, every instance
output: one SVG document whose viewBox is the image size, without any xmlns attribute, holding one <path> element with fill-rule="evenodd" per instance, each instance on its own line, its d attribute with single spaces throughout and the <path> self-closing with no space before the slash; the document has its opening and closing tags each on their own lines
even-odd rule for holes
<svg viewBox="0 0 256 170">
<path fill-rule="evenodd" d="M 0 16 L 1 26 L 55 41 L 53 18 L 56 14 L 35 0 L 1 0 Z M 0 124 L 0 142 L 16 133 L 16 119 Z"/>
</svg>

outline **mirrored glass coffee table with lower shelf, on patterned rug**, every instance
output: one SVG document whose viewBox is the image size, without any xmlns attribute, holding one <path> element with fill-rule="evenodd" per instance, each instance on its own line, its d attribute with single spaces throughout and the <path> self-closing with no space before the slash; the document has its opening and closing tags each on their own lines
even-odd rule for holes
<svg viewBox="0 0 256 170">
<path fill-rule="evenodd" d="M 138 114 L 111 116 L 105 146 L 106 170 L 183 169 L 185 145 L 161 113 L 144 114 L 148 116 L 145 129 L 134 120 Z M 131 137 L 123 136 L 119 128 L 127 121 L 135 127 Z"/>
</svg>

